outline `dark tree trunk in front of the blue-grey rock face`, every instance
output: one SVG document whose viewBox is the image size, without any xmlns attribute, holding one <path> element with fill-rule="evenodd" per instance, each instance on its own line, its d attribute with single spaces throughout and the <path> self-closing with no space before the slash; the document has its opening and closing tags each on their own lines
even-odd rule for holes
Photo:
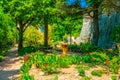
<svg viewBox="0 0 120 80">
<path fill-rule="evenodd" d="M 93 32 L 93 44 L 98 45 L 98 39 L 99 39 L 99 23 L 98 23 L 98 5 L 94 4 L 94 14 L 93 14 L 93 22 L 94 22 L 94 32 Z"/>
</svg>

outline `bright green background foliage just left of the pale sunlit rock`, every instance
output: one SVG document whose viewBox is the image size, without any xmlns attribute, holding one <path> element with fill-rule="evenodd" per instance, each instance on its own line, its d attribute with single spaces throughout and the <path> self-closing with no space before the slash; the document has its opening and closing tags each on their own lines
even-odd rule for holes
<svg viewBox="0 0 120 80">
<path fill-rule="evenodd" d="M 71 24 L 70 24 L 71 23 Z M 72 20 L 71 16 L 64 17 L 62 19 L 57 19 L 57 24 L 53 25 L 53 36 L 52 39 L 54 41 L 64 40 L 68 35 L 72 34 L 73 36 L 79 36 L 79 33 L 82 28 L 82 18 L 78 20 Z"/>
</svg>

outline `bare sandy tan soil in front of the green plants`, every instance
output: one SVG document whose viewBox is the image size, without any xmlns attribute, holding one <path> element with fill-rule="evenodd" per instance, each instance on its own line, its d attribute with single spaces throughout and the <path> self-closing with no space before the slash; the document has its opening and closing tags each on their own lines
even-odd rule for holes
<svg viewBox="0 0 120 80">
<path fill-rule="evenodd" d="M 31 68 L 29 73 L 30 75 L 34 75 L 35 80 L 55 80 L 55 77 L 58 77 L 58 80 L 81 80 L 82 77 L 79 76 L 79 73 L 75 67 L 76 65 L 71 65 L 69 68 L 62 68 L 60 69 L 61 72 L 59 74 L 46 75 L 40 69 L 35 68 Z M 99 66 L 90 68 L 89 70 L 85 71 L 85 75 L 91 77 L 92 80 L 112 80 L 111 79 L 112 75 L 107 73 L 104 73 L 102 77 L 91 75 L 91 71 L 101 69 L 102 68 Z"/>
</svg>

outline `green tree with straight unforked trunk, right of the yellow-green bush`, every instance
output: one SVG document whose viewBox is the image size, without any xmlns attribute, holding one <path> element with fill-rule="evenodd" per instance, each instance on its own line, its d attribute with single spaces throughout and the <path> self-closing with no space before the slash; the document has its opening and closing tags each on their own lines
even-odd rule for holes
<svg viewBox="0 0 120 80">
<path fill-rule="evenodd" d="M 39 1 L 41 10 L 40 12 L 40 24 L 44 26 L 44 46 L 48 47 L 48 25 L 56 21 L 56 14 L 58 14 L 58 3 L 57 0 L 42 0 Z"/>
</svg>

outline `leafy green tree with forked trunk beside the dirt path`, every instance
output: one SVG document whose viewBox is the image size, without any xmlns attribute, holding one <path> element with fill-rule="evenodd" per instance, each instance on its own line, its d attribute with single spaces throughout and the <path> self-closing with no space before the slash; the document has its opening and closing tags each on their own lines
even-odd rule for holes
<svg viewBox="0 0 120 80">
<path fill-rule="evenodd" d="M 23 47 L 23 33 L 26 28 L 36 19 L 38 9 L 33 0 L 3 0 L 1 1 L 4 11 L 9 13 L 19 31 L 18 50 Z M 36 14 L 37 13 L 37 14 Z M 38 15 L 37 15 L 38 16 Z"/>
</svg>

